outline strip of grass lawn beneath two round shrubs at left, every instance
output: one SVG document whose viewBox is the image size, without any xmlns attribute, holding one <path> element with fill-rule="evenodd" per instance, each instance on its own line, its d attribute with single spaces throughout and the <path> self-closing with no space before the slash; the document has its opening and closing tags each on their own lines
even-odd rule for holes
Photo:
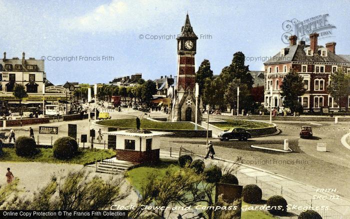
<svg viewBox="0 0 350 219">
<path fill-rule="evenodd" d="M 98 159 L 110 158 L 115 155 L 111 149 L 78 149 L 78 155 L 71 159 L 57 159 L 53 156 L 52 148 L 39 148 L 40 152 L 33 157 L 18 156 L 14 148 L 2 148 L 3 154 L 0 156 L 0 161 L 14 161 L 14 162 L 47 162 L 47 163 L 71 163 L 71 164 L 87 164 Z"/>
</svg>

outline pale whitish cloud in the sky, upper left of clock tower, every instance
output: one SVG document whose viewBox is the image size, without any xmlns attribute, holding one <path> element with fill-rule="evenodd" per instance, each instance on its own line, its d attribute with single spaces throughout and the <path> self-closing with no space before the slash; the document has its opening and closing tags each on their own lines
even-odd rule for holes
<svg viewBox="0 0 350 219">
<path fill-rule="evenodd" d="M 64 19 L 61 25 L 69 30 L 87 32 L 139 30 L 162 25 L 166 17 L 175 14 L 178 5 L 176 1 L 133 0 L 126 3 L 112 0 L 83 15 Z"/>
</svg>

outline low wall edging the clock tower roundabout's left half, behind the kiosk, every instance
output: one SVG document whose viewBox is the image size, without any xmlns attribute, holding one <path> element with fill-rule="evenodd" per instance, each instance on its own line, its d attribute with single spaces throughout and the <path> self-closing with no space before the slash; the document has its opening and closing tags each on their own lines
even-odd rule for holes
<svg viewBox="0 0 350 219">
<path fill-rule="evenodd" d="M 103 132 L 107 132 L 108 128 L 115 128 L 114 130 L 125 130 L 128 128 L 125 127 L 115 127 L 115 126 L 106 126 L 106 125 L 100 125 L 96 124 L 95 122 L 92 122 L 91 128 L 94 128 L 95 130 L 98 130 L 99 128 Z M 153 131 L 166 131 L 166 132 L 173 132 L 172 135 L 169 135 L 169 137 L 206 137 L 206 130 L 200 129 L 200 130 L 179 130 L 179 129 L 157 129 L 157 128 L 147 128 L 147 130 L 153 130 Z M 212 131 L 208 131 L 208 137 L 211 137 Z"/>
</svg>

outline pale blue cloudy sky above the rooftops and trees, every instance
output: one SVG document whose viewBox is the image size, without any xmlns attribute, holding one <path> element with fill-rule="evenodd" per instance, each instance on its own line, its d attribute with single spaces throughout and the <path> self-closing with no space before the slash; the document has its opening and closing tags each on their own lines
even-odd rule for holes
<svg viewBox="0 0 350 219">
<path fill-rule="evenodd" d="M 208 59 L 219 74 L 236 51 L 250 70 L 262 70 L 264 57 L 287 46 L 281 39 L 286 20 L 328 14 L 332 28 L 318 44 L 335 41 L 336 53 L 350 54 L 349 11 L 346 0 L 0 0 L 0 57 L 24 51 L 45 59 L 54 84 L 107 83 L 136 72 L 145 79 L 175 75 L 174 35 L 188 12 L 199 37 L 196 70 Z"/>
</svg>

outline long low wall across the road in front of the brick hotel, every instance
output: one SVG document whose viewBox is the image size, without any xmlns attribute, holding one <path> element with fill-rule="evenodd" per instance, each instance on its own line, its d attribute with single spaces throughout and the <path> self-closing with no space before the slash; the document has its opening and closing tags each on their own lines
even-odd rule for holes
<svg viewBox="0 0 350 219">
<path fill-rule="evenodd" d="M 207 116 L 207 115 L 203 115 Z M 210 118 L 218 118 L 218 119 L 251 119 L 251 120 L 269 120 L 270 116 L 269 115 L 212 115 L 210 114 Z M 276 121 L 332 121 L 334 122 L 335 118 L 334 117 L 325 117 L 325 116 L 273 116 L 272 120 Z M 338 121 L 350 121 L 350 116 L 348 117 L 343 117 L 343 116 L 338 116 Z"/>
</svg>

